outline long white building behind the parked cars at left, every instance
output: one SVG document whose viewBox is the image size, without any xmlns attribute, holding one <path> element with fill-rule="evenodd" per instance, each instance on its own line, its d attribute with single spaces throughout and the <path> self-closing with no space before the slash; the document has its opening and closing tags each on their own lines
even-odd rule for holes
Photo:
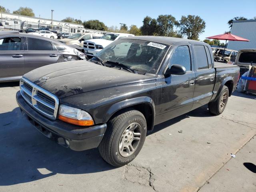
<svg viewBox="0 0 256 192">
<path fill-rule="evenodd" d="M 26 28 L 49 28 L 50 30 L 55 30 L 57 32 L 68 32 L 70 34 L 74 33 L 104 33 L 103 31 L 85 29 L 82 24 L 74 24 L 63 21 L 44 19 L 39 17 L 30 17 L 24 15 L 17 15 L 11 13 L 1 13 L 0 23 L 5 29 L 10 30 L 20 30 Z"/>
</svg>

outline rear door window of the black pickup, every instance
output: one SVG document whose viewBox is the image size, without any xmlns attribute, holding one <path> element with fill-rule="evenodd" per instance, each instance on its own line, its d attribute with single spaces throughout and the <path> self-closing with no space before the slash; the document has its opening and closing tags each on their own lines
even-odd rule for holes
<svg viewBox="0 0 256 192">
<path fill-rule="evenodd" d="M 197 69 L 208 69 L 208 59 L 203 45 L 194 45 Z"/>
</svg>

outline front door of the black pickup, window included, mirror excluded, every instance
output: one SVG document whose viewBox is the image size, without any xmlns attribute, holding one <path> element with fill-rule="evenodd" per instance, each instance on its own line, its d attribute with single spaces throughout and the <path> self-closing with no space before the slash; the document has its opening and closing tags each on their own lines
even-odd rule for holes
<svg viewBox="0 0 256 192">
<path fill-rule="evenodd" d="M 195 72 L 192 65 L 192 50 L 189 44 L 176 46 L 169 61 L 186 68 L 186 74 L 170 75 L 162 83 L 161 104 L 158 105 L 158 122 L 164 122 L 176 116 L 189 112 L 193 105 Z"/>
</svg>

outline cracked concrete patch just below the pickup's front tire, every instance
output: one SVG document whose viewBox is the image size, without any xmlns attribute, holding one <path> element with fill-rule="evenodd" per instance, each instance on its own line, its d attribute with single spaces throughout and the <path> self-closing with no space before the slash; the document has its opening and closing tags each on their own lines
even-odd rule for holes
<svg viewBox="0 0 256 192">
<path fill-rule="evenodd" d="M 132 174 L 136 174 L 136 172 L 134 172 L 130 169 L 131 167 L 135 168 L 138 171 L 139 174 L 137 176 L 138 176 L 139 179 L 142 179 L 142 181 L 144 181 L 144 179 L 145 179 L 145 178 L 143 178 L 143 176 L 148 177 L 148 185 L 146 183 L 145 184 L 141 183 L 139 180 L 133 181 L 131 178 L 129 179 L 129 177 L 132 177 L 134 179 Z M 131 173 L 128 173 L 128 170 L 130 170 Z M 149 175 L 146 175 L 147 173 Z M 153 182 L 155 181 L 155 179 L 154 179 L 154 174 L 152 173 L 150 167 L 136 166 L 134 164 L 125 165 L 124 166 L 124 172 L 123 172 L 123 175 L 122 175 L 122 179 L 123 180 L 128 180 L 129 182 L 132 182 L 132 183 L 137 183 L 139 185 L 150 186 L 154 191 L 157 192 L 157 190 L 155 189 L 155 187 L 153 185 Z"/>
</svg>

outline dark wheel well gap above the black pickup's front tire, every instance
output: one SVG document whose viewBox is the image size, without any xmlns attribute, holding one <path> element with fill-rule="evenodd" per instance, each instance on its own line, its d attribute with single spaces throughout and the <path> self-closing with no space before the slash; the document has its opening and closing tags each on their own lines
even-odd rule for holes
<svg viewBox="0 0 256 192">
<path fill-rule="evenodd" d="M 126 108 L 122 108 L 118 111 L 116 111 L 111 117 L 110 119 L 115 116 L 117 113 L 122 112 L 123 110 L 127 109 L 127 108 L 133 108 L 135 110 L 138 110 L 139 112 L 141 112 L 147 122 L 147 129 L 148 131 L 153 130 L 153 124 L 154 124 L 154 117 L 153 117 L 153 109 L 150 107 L 149 104 L 146 103 L 141 103 L 141 104 L 136 104 L 136 105 L 132 105 L 132 106 L 128 106 Z"/>
</svg>

